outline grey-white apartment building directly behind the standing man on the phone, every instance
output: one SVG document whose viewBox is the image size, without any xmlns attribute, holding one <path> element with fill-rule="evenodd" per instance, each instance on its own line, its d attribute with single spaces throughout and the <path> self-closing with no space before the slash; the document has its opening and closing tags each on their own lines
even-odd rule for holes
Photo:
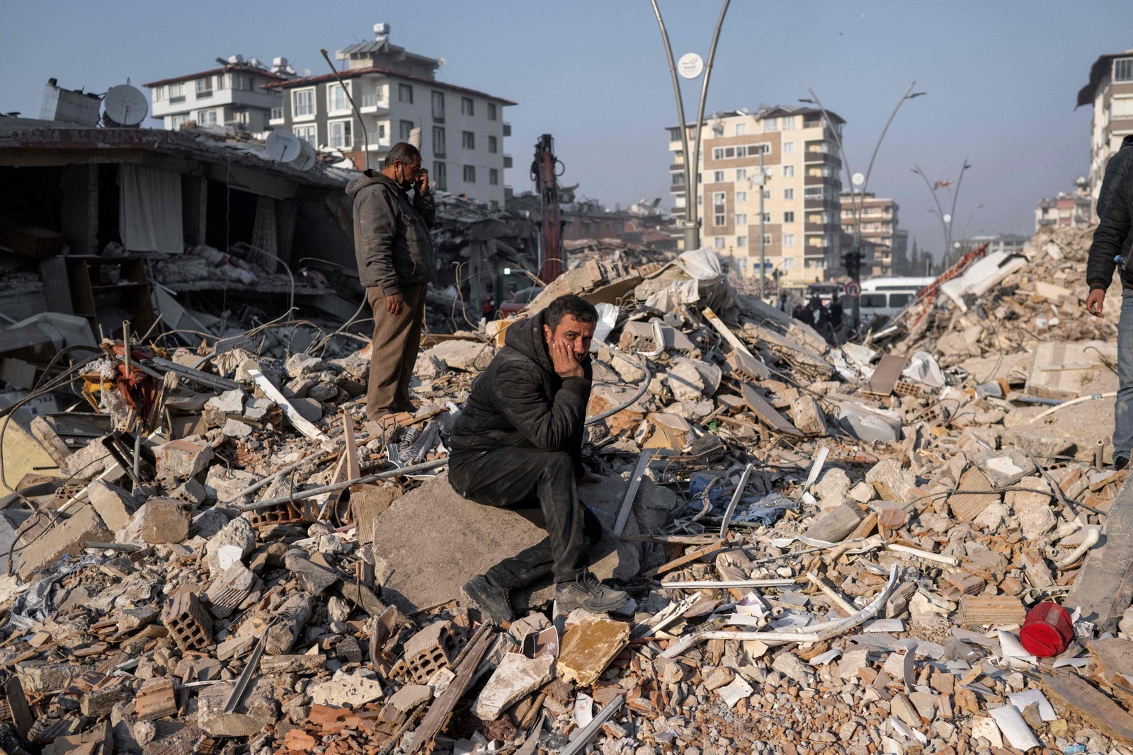
<svg viewBox="0 0 1133 755">
<path fill-rule="evenodd" d="M 477 201 L 503 206 L 503 171 L 511 168 L 504 137 L 511 126 L 503 97 L 438 81 L 443 60 L 390 42 L 389 24 L 375 24 L 375 38 L 335 53 L 347 61 L 338 76 L 306 76 L 267 85 L 282 92 L 273 127 L 290 129 L 316 149 L 341 151 L 358 168 L 381 169 L 398 141 L 421 129 L 421 163 L 436 187 Z M 341 79 L 341 83 L 340 80 Z M 347 98 L 353 98 L 365 131 Z"/>
</svg>

